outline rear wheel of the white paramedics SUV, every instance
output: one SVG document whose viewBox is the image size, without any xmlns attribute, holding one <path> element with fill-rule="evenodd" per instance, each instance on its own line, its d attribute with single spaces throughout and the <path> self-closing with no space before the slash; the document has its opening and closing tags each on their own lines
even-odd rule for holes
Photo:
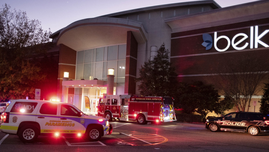
<svg viewBox="0 0 269 152">
<path fill-rule="evenodd" d="M 22 142 L 33 142 L 38 137 L 38 129 L 30 125 L 20 129 L 18 136 Z"/>
</svg>

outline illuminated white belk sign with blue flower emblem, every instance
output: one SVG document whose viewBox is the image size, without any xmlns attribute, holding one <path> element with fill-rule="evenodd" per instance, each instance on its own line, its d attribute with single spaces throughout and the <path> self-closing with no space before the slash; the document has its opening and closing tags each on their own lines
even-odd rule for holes
<svg viewBox="0 0 269 152">
<path fill-rule="evenodd" d="M 263 45 L 264 47 L 269 47 L 269 45 L 267 45 L 266 43 L 264 43 L 263 41 L 261 41 L 260 39 L 266 35 L 267 33 L 269 32 L 269 30 L 265 30 L 264 32 L 262 32 L 260 35 L 258 35 L 258 26 L 255 26 L 255 33 L 254 33 L 254 27 L 251 26 L 250 27 L 250 49 L 253 49 L 253 41 L 254 41 L 254 47 L 255 48 L 258 48 L 258 43 Z M 235 42 L 235 39 L 237 37 L 242 37 L 240 40 L 236 41 Z M 219 52 L 223 52 L 223 51 L 226 51 L 228 50 L 228 48 L 230 47 L 231 43 L 232 43 L 232 46 L 235 50 L 243 50 L 245 49 L 249 43 L 245 43 L 244 46 L 241 46 L 241 47 L 238 47 L 238 45 L 240 43 L 242 43 L 244 40 L 246 40 L 248 38 L 248 35 L 245 34 L 245 33 L 238 33 L 236 34 L 233 39 L 232 39 L 232 42 L 231 40 L 229 39 L 229 37 L 227 36 L 219 36 L 217 37 L 217 32 L 214 32 L 214 47 L 217 51 Z M 224 49 L 219 49 L 217 47 L 217 43 L 220 39 L 226 39 L 226 41 L 228 42 L 227 46 L 224 48 Z M 211 49 L 212 45 L 213 45 L 213 40 L 212 40 L 212 36 L 210 34 L 203 34 L 203 40 L 204 42 L 202 43 L 202 45 L 204 47 L 206 47 L 206 50 L 209 50 Z"/>
</svg>

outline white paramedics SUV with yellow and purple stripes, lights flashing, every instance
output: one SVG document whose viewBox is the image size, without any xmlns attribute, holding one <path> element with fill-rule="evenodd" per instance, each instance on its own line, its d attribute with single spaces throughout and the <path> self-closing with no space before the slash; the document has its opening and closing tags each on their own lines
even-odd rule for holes
<svg viewBox="0 0 269 152">
<path fill-rule="evenodd" d="M 0 131 L 16 134 L 23 142 L 38 135 L 76 135 L 98 141 L 112 133 L 112 125 L 102 117 L 86 115 L 77 107 L 62 102 L 11 100 L 1 114 Z"/>
</svg>

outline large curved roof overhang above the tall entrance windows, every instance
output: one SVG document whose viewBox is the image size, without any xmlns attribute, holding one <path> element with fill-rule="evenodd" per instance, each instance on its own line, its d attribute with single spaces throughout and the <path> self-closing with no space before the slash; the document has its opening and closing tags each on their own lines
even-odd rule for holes
<svg viewBox="0 0 269 152">
<path fill-rule="evenodd" d="M 76 21 L 59 34 L 57 45 L 64 44 L 75 51 L 95 47 L 125 44 L 127 31 L 132 31 L 138 43 L 145 43 L 147 32 L 140 22 L 128 19 L 98 17 Z"/>
</svg>

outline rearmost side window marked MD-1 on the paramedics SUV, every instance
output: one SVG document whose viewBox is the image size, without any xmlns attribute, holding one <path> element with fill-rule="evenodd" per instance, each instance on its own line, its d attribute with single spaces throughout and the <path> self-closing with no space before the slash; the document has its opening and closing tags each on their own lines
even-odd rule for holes
<svg viewBox="0 0 269 152">
<path fill-rule="evenodd" d="M 37 102 L 15 102 L 10 112 L 32 113 Z"/>
</svg>

